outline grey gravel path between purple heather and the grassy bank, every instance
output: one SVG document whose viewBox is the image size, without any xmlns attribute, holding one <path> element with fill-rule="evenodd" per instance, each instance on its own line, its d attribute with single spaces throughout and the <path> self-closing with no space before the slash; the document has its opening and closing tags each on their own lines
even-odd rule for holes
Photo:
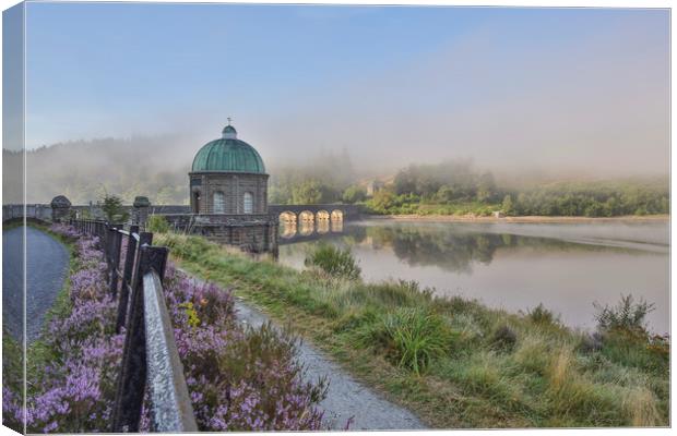
<svg viewBox="0 0 677 436">
<path fill-rule="evenodd" d="M 197 279 L 195 279 L 197 280 Z M 270 318 L 261 311 L 236 299 L 235 308 L 240 322 L 259 327 Z M 306 379 L 322 376 L 329 380 L 326 399 L 320 403 L 324 417 L 333 429 L 343 429 L 353 417 L 351 429 L 423 429 L 424 424 L 408 410 L 395 405 L 356 382 L 322 352 L 302 342 L 299 361 L 306 367 Z"/>
</svg>

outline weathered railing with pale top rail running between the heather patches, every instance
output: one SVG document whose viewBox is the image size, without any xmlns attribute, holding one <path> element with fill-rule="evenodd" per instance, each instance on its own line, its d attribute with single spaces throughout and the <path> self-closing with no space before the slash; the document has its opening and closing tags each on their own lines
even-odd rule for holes
<svg viewBox="0 0 677 436">
<path fill-rule="evenodd" d="M 152 431 L 197 432 L 165 305 L 163 279 L 169 250 L 151 245 L 153 233 L 139 232 L 138 226 L 124 230 L 122 225 L 87 219 L 71 219 L 70 223 L 99 238 L 108 266 L 108 291 L 118 301 L 116 331 L 122 327 L 126 331 L 111 432 L 139 432 L 146 388 Z"/>
</svg>

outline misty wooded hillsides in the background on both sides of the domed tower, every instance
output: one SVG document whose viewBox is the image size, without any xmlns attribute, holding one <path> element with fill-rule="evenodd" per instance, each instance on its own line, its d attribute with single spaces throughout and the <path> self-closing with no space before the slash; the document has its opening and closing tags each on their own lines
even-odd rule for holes
<svg viewBox="0 0 677 436">
<path fill-rule="evenodd" d="M 73 204 L 100 199 L 106 193 L 131 204 L 136 195 L 155 205 L 187 204 L 187 174 L 197 147 L 188 140 L 132 137 L 94 140 L 40 147 L 26 154 L 28 203 L 48 203 L 64 194 Z M 22 155 L 3 150 L 5 203 L 21 202 Z M 512 216 L 613 217 L 669 213 L 667 177 L 578 180 L 514 186 L 496 180 L 470 161 L 411 165 L 369 193 L 375 180 L 352 164 L 347 152 L 308 157 L 302 165 L 266 162 L 271 204 L 360 204 L 381 215 L 475 215 L 496 210 Z"/>
</svg>

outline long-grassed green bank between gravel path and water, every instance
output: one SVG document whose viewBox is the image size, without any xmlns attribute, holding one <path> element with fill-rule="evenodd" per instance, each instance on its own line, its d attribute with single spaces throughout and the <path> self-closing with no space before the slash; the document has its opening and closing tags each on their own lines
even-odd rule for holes
<svg viewBox="0 0 677 436">
<path fill-rule="evenodd" d="M 599 308 L 590 336 L 543 305 L 508 314 L 415 282 L 368 283 L 319 267 L 324 261 L 297 271 L 197 237 L 156 242 L 193 274 L 290 323 L 432 427 L 669 423 L 669 338 L 645 329 L 643 302 Z"/>
</svg>

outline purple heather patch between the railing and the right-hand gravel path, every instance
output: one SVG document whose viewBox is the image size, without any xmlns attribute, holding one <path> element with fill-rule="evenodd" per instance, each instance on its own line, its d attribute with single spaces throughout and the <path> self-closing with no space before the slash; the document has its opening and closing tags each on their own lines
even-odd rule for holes
<svg viewBox="0 0 677 436">
<path fill-rule="evenodd" d="M 322 427 L 324 382 L 302 383 L 296 340 L 270 325 L 245 330 L 230 291 L 189 279 L 170 265 L 166 303 L 175 324 L 198 425 L 202 431 L 301 431 Z M 185 307 L 190 303 L 201 323 Z"/>
</svg>

